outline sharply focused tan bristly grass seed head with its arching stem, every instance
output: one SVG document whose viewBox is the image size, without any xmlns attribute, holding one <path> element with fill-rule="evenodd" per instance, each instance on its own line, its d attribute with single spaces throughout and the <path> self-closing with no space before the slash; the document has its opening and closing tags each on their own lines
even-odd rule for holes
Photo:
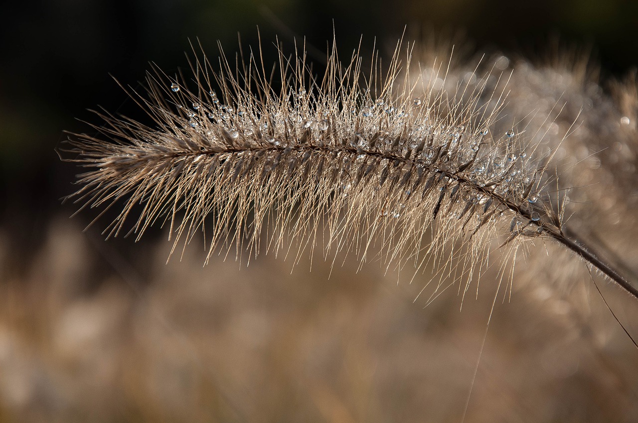
<svg viewBox="0 0 638 423">
<path fill-rule="evenodd" d="M 174 251 L 205 229 L 206 261 L 343 253 L 386 269 L 427 266 L 464 290 L 494 246 L 553 238 L 637 295 L 563 234 L 552 152 L 516 128 L 492 130 L 507 74 L 447 90 L 445 63 L 413 77 L 411 47 L 402 54 L 399 43 L 386 67 L 373 55 L 368 72 L 334 46 L 321 76 L 302 50 L 280 51 L 271 71 L 252 52 L 237 66 L 195 57 L 190 78 L 155 69 L 144 93 L 130 92 L 152 125 L 96 112 L 100 135 L 70 137 L 66 160 L 87 169 L 70 198 L 123 203 L 107 236 L 167 225 Z"/>
</svg>

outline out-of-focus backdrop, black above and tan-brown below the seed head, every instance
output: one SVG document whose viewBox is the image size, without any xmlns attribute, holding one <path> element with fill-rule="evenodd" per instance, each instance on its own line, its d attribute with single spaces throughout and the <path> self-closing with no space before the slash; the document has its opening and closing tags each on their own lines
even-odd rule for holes
<svg viewBox="0 0 638 423">
<path fill-rule="evenodd" d="M 165 266 L 161 230 L 142 245 L 105 243 L 97 229 L 81 232 L 91 213 L 69 221 L 75 207 L 59 198 L 73 191 L 77 169 L 54 152 L 62 131 L 89 131 L 82 120 L 95 123 L 87 108 L 98 104 L 145 120 L 109 74 L 139 87 L 149 61 L 167 73 L 188 66 L 189 38 L 211 57 L 218 40 L 232 55 L 238 32 L 243 45 L 257 44 L 257 27 L 267 46 L 276 35 L 288 46 L 305 37 L 317 69 L 333 31 L 342 57 L 361 36 L 364 51 L 376 38 L 388 54 L 405 25 L 408 39 L 462 32 L 472 44 L 463 48 L 527 57 L 545 57 L 560 36 L 591 47 L 606 76 L 638 63 L 638 6 L 619 0 L 56 0 L 14 2 L 3 13 L 1 421 L 463 414 L 489 281 L 461 313 L 456 292 L 424 311 L 412 304 L 419 283 L 397 286 L 375 266 L 328 279 L 324 264 L 309 273 L 302 263 L 291 276 L 290 264 L 266 257 L 237 273 L 234 262 L 202 269 L 196 247 Z M 265 62 L 275 61 L 266 51 Z M 466 421 L 638 419 L 637 354 L 604 305 L 583 313 L 582 292 L 526 290 L 497 308 Z"/>
</svg>

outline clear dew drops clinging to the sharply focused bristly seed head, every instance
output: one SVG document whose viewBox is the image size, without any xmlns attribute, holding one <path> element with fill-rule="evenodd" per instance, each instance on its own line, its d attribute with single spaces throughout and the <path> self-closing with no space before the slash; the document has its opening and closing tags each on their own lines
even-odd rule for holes
<svg viewBox="0 0 638 423">
<path fill-rule="evenodd" d="M 177 93 L 180 91 L 179 84 L 176 82 L 171 83 L 170 90 L 172 92 Z M 366 95 L 369 94 L 369 91 L 366 91 Z M 228 134 L 231 138 L 237 139 L 239 138 L 239 131 L 244 134 L 244 136 L 249 137 L 255 133 L 255 121 L 251 119 L 246 119 L 246 111 L 237 110 L 235 111 L 232 106 L 228 106 L 225 104 L 220 104 L 219 99 L 216 93 L 211 90 L 209 92 L 211 97 L 211 104 L 209 109 L 202 106 L 200 103 L 192 103 L 191 108 L 186 108 L 177 104 L 177 108 L 184 110 L 186 115 L 188 116 L 188 121 L 185 125 L 188 125 L 192 129 L 197 131 L 204 131 L 205 135 L 211 136 L 211 131 L 207 131 L 206 125 L 201 123 L 201 120 L 204 116 L 209 118 L 211 122 L 215 122 L 217 125 L 222 125 L 228 131 Z M 300 88 L 297 92 L 293 92 L 293 95 L 296 96 L 296 100 L 298 101 L 301 97 L 306 96 L 306 90 Z M 369 99 L 369 97 L 367 97 Z M 417 110 L 422 105 L 422 100 L 419 98 L 413 99 L 408 106 L 412 106 L 414 110 Z M 386 101 L 383 98 L 378 98 L 374 102 L 369 101 L 369 104 L 362 105 L 359 110 L 357 108 L 352 108 L 350 110 L 350 114 L 352 117 L 362 117 L 362 118 L 373 118 L 378 115 L 385 114 L 389 118 L 394 119 L 404 119 L 406 117 L 410 117 L 411 113 L 409 110 L 404 110 L 404 108 L 396 108 L 390 101 Z M 288 117 L 291 119 L 290 117 Z M 327 131 L 329 128 L 329 120 L 327 117 L 318 118 L 318 120 L 313 120 L 308 117 L 303 117 L 302 115 L 297 115 L 293 117 L 290 122 L 293 125 L 299 125 L 299 127 L 303 129 L 314 128 L 318 131 Z M 402 145 L 401 154 L 406 154 L 408 149 L 415 150 L 418 146 L 417 140 L 423 140 L 427 136 L 434 136 L 438 139 L 438 144 L 434 143 L 434 145 L 430 147 L 426 147 L 420 152 L 420 159 L 424 159 L 427 161 L 433 161 L 433 157 L 436 154 L 436 148 L 439 145 L 449 145 L 449 153 L 457 147 L 457 144 L 461 142 L 466 143 L 468 148 L 459 148 L 459 160 L 457 161 L 456 166 L 459 166 L 461 162 L 466 162 L 470 160 L 470 157 L 479 152 L 480 145 L 482 144 L 482 139 L 487 136 L 489 130 L 487 127 L 484 127 L 478 131 L 477 134 L 472 134 L 466 136 L 466 140 L 462 141 L 461 138 L 464 135 L 464 127 L 463 125 L 459 125 L 456 127 L 445 127 L 445 125 L 436 125 L 433 126 L 429 124 L 429 110 L 426 113 L 422 113 L 420 115 L 419 120 L 415 120 L 413 125 L 410 125 L 410 133 L 408 134 L 408 138 L 411 140 L 415 140 L 409 145 Z M 271 122 L 285 122 L 285 117 L 271 117 Z M 267 130 L 268 129 L 268 121 L 265 118 L 259 118 L 256 123 L 260 125 L 260 129 Z M 239 129 L 239 131 L 238 131 Z M 389 148 L 392 144 L 394 137 L 391 136 L 390 133 L 386 133 L 386 136 L 379 137 L 375 149 Z M 508 130 L 505 134 L 505 140 L 511 140 L 516 136 L 514 129 Z M 451 140 L 450 138 L 451 137 Z M 285 141 L 269 137 L 266 140 L 276 147 L 286 147 L 283 145 Z M 366 136 L 362 133 L 356 133 L 355 138 L 351 141 L 352 147 L 357 148 L 359 151 L 359 159 L 364 159 L 365 154 L 363 154 L 364 150 L 368 150 L 370 148 L 369 141 L 367 141 Z M 459 145 L 460 147 L 460 145 Z M 501 154 L 500 154 L 501 153 Z M 415 159 L 419 159 L 419 157 L 415 157 Z M 440 158 L 439 158 L 440 159 Z M 491 187 L 494 194 L 498 194 L 503 198 L 512 197 L 514 201 L 528 203 L 528 206 L 531 207 L 530 216 L 531 220 L 537 222 L 540 220 L 540 214 L 537 210 L 542 203 L 540 201 L 540 197 L 535 192 L 530 192 L 528 196 L 524 199 L 516 198 L 519 193 L 523 192 L 526 187 L 531 183 L 530 174 L 533 173 L 534 169 L 530 172 L 528 163 L 530 163 L 530 158 L 526 154 L 526 152 L 521 151 L 519 154 L 516 152 L 508 152 L 507 154 L 502 154 L 498 149 L 493 149 L 493 152 L 490 154 L 485 154 L 480 156 L 480 159 L 477 159 L 477 162 L 470 169 L 470 182 L 485 187 L 487 183 L 498 180 L 499 182 L 494 184 Z M 431 164 L 431 163 L 430 163 Z M 447 167 L 445 167 L 447 166 Z M 443 171 L 454 171 L 454 166 L 450 164 L 443 164 Z M 350 185 L 350 184 L 348 184 Z M 349 187 L 349 186 L 348 186 Z M 347 196 L 346 185 L 344 186 L 344 196 Z M 465 194 L 468 197 L 466 200 L 471 201 L 472 203 L 477 204 L 485 204 L 488 201 L 487 196 L 483 194 Z M 465 199 L 465 198 L 464 198 Z M 385 213 L 385 214 L 384 214 Z M 382 215 L 389 215 L 394 218 L 398 218 L 400 216 L 399 211 L 384 211 Z M 512 230 L 514 227 L 523 226 L 523 220 L 519 217 L 514 217 L 512 220 Z M 542 231 L 542 227 L 538 226 L 539 232 Z"/>
</svg>

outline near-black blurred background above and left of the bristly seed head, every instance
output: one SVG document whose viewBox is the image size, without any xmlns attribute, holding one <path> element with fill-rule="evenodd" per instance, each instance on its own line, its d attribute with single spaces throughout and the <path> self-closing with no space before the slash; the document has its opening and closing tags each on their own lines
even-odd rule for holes
<svg viewBox="0 0 638 423">
<path fill-rule="evenodd" d="M 63 131 L 89 131 L 81 121 L 96 122 L 87 108 L 98 105 L 143 119 L 110 75 L 136 87 L 149 61 L 168 73 L 185 67 L 189 39 L 199 38 L 216 57 L 217 40 L 234 54 L 237 34 L 254 46 L 259 28 L 264 45 L 276 35 L 289 46 L 293 36 L 306 37 L 325 52 L 334 30 L 348 57 L 361 36 L 364 49 L 376 38 L 383 52 L 407 28 L 408 39 L 460 32 L 473 48 L 528 57 L 544 57 L 560 37 L 563 45 L 591 47 L 607 76 L 622 76 L 638 62 L 638 5 L 619 0 L 55 0 L 11 2 L 3 15 L 0 222 L 22 259 L 51 215 L 73 210 L 59 203 L 76 173 L 54 152 Z M 267 49 L 267 62 L 273 52 Z M 320 54 L 310 59 L 320 66 Z"/>
</svg>

